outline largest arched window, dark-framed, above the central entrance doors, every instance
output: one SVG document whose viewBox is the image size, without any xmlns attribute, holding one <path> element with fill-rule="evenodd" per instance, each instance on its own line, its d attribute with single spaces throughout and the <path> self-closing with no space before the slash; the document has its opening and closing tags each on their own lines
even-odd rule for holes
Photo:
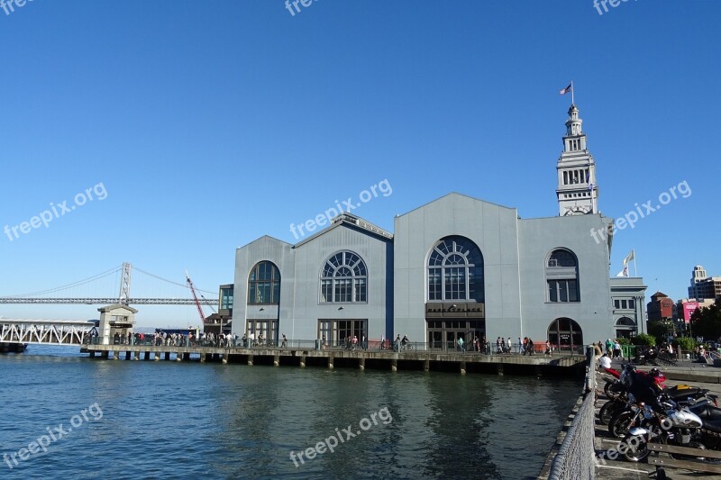
<svg viewBox="0 0 721 480">
<path fill-rule="evenodd" d="M 483 302 L 483 256 L 465 237 L 439 240 L 428 258 L 428 300 Z"/>
</svg>

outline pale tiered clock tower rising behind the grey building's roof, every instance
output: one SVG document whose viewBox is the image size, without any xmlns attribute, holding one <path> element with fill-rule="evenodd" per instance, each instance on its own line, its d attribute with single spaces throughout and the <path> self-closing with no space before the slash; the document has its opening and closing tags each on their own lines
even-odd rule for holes
<svg viewBox="0 0 721 480">
<path fill-rule="evenodd" d="M 586 145 L 582 124 L 579 109 L 571 104 L 563 137 L 563 152 L 556 165 L 560 216 L 598 213 L 596 161 Z"/>
</svg>

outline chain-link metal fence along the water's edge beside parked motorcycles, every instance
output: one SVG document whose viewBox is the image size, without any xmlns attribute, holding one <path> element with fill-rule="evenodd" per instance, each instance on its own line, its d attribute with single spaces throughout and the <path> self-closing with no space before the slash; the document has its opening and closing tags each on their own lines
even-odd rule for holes
<svg viewBox="0 0 721 480">
<path fill-rule="evenodd" d="M 596 474 L 596 357 L 589 355 L 584 381 L 586 395 L 570 424 L 558 454 L 553 458 L 549 480 L 586 480 Z"/>
</svg>

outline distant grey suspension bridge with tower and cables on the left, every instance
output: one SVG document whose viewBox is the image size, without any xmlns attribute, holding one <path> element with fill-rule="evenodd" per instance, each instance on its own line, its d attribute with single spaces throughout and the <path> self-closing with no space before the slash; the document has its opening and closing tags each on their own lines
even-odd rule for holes
<svg viewBox="0 0 721 480">
<path fill-rule="evenodd" d="M 134 275 L 138 274 L 138 275 Z M 142 297 L 131 296 L 131 278 L 132 276 L 151 280 L 160 285 L 174 285 L 176 294 L 170 295 L 152 295 Z M 109 281 L 109 282 L 108 282 Z M 114 284 L 118 294 L 111 296 L 107 284 Z M 104 285 L 105 284 L 105 285 Z M 147 285 L 144 285 L 147 286 Z M 183 289 L 178 292 L 178 287 Z M 149 288 L 142 288 L 149 290 Z M 157 290 L 157 289 L 156 289 Z M 94 294 L 102 292 L 104 295 Z M 79 294 L 82 292 L 82 294 Z M 216 307 L 218 304 L 217 292 L 210 292 L 196 288 L 196 292 L 200 296 L 200 303 Z M 205 298 L 205 296 L 209 298 Z M 174 282 L 167 278 L 157 276 L 146 272 L 138 267 L 132 267 L 128 262 L 122 266 L 111 268 L 105 272 L 94 276 L 89 276 L 78 282 L 68 285 L 61 285 L 55 288 L 42 290 L 40 292 L 32 292 L 30 294 L 15 294 L 0 297 L 0 303 L 18 304 L 18 303 L 55 303 L 55 304 L 87 304 L 87 305 L 107 305 L 111 303 L 120 303 L 123 305 L 195 305 L 194 298 L 189 296 L 188 286 Z"/>
</svg>

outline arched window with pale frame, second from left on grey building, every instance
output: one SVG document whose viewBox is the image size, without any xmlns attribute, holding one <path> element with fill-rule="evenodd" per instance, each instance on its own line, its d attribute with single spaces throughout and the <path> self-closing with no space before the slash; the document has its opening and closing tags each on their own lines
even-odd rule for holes
<svg viewBox="0 0 721 480">
<path fill-rule="evenodd" d="M 325 261 L 321 273 L 321 303 L 367 302 L 368 273 L 363 259 L 341 251 Z"/>
</svg>

